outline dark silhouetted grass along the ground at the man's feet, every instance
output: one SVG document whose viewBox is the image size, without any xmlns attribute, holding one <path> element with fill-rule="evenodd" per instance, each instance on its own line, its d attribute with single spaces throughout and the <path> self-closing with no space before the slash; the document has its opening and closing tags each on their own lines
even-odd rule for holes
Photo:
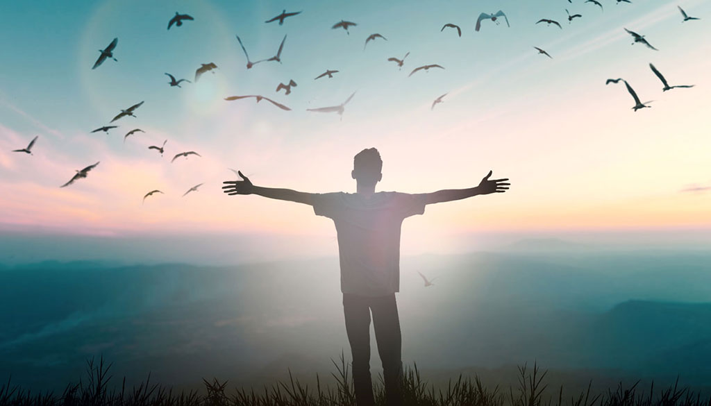
<svg viewBox="0 0 711 406">
<path fill-rule="evenodd" d="M 203 379 L 204 392 L 173 393 L 171 388 L 164 388 L 151 383 L 149 374 L 145 382 L 127 390 L 126 378 L 119 388 L 109 390 L 112 382 L 111 364 L 100 358 L 98 363 L 92 358 L 87 360 L 85 376 L 78 383 L 67 385 L 61 395 L 44 392 L 31 393 L 13 386 L 11 378 L 0 385 L 0 406 L 355 406 L 355 395 L 349 375 L 349 365 L 341 353 L 340 362 L 333 360 L 336 373 L 335 387 L 324 387 L 321 378 L 316 375 L 316 387 L 309 388 L 294 380 L 289 371 L 289 381 L 278 382 L 263 390 L 254 388 L 235 388 L 230 391 L 227 381 Z M 638 391 L 637 383 L 623 388 L 619 383 L 616 390 L 592 395 L 581 392 L 570 400 L 564 398 L 563 388 L 555 395 L 548 395 L 545 375 L 538 365 L 528 368 L 518 367 L 518 388 L 508 388 L 508 395 L 495 388 L 487 388 L 478 376 L 465 378 L 459 375 L 456 380 L 449 380 L 447 387 L 434 388 L 425 383 L 419 375 L 417 364 L 405 368 L 402 380 L 402 393 L 407 406 L 711 406 L 711 397 L 701 398 L 687 388 L 679 388 L 678 380 L 669 388 L 654 392 L 654 383 L 648 392 Z M 375 384 L 375 402 L 385 405 L 383 380 Z"/>
</svg>

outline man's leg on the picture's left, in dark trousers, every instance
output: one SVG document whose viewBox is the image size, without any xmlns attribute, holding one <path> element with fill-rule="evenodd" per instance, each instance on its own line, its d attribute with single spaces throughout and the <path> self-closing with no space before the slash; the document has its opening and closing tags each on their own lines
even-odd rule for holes
<svg viewBox="0 0 711 406">
<path fill-rule="evenodd" d="M 373 381 L 370 380 L 370 308 L 368 298 L 343 294 L 343 316 L 353 355 L 353 390 L 358 406 L 373 406 Z"/>
</svg>

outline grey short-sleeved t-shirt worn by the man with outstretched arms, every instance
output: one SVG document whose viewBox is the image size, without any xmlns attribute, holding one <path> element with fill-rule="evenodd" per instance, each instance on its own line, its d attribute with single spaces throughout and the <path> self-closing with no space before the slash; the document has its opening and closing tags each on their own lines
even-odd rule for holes
<svg viewBox="0 0 711 406">
<path fill-rule="evenodd" d="M 424 213 L 424 196 L 378 192 L 322 193 L 314 213 L 333 219 L 338 234 L 341 292 L 384 296 L 400 292 L 400 226 Z"/>
</svg>

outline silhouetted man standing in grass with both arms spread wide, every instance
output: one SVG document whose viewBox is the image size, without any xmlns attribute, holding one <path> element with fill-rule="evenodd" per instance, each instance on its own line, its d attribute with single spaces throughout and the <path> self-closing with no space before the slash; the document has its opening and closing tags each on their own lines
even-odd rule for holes
<svg viewBox="0 0 711 406">
<path fill-rule="evenodd" d="M 346 333 L 353 356 L 353 388 L 358 406 L 373 406 L 370 379 L 370 314 L 383 363 L 387 405 L 402 405 L 402 338 L 395 292 L 400 291 L 400 225 L 411 215 L 424 213 L 432 203 L 456 201 L 488 193 L 503 193 L 506 179 L 489 180 L 491 171 L 468 189 L 434 193 L 375 192 L 383 178 L 383 161 L 375 148 L 363 149 L 353 159 L 351 177 L 356 193 L 304 193 L 291 189 L 255 186 L 239 172 L 242 181 L 226 181 L 229 195 L 257 194 L 267 198 L 314 206 L 316 215 L 333 219 L 338 234 L 341 292 Z"/>
</svg>

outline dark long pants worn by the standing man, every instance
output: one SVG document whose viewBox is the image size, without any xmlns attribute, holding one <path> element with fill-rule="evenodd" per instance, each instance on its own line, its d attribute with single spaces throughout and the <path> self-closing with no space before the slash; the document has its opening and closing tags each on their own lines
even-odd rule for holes
<svg viewBox="0 0 711 406">
<path fill-rule="evenodd" d="M 383 363 L 383 380 L 388 406 L 402 405 L 402 336 L 395 294 L 381 297 L 343 294 L 346 333 L 353 355 L 353 390 L 358 406 L 375 405 L 370 379 L 370 311 L 373 311 L 375 341 Z"/>
</svg>

